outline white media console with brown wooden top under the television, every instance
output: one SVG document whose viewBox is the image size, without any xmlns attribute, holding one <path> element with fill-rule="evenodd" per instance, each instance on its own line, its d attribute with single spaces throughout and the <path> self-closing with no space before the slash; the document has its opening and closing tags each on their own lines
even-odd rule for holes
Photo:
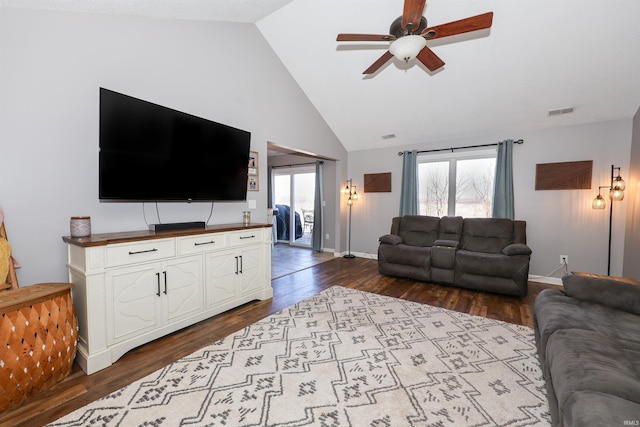
<svg viewBox="0 0 640 427">
<path fill-rule="evenodd" d="M 63 237 L 87 374 L 127 351 L 246 302 L 268 299 L 271 224 Z"/>
</svg>

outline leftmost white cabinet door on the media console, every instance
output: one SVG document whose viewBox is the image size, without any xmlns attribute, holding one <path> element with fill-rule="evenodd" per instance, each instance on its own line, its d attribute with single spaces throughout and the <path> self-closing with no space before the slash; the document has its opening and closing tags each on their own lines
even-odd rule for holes
<svg viewBox="0 0 640 427">
<path fill-rule="evenodd" d="M 136 337 L 162 325 L 160 273 L 156 263 L 112 269 L 106 273 L 107 340 Z"/>
</svg>

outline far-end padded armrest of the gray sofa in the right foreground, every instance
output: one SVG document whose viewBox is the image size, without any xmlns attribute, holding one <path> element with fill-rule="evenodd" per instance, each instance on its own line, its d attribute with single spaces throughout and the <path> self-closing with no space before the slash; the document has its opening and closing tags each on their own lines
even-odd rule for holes
<svg viewBox="0 0 640 427">
<path fill-rule="evenodd" d="M 633 279 L 574 273 L 562 278 L 562 286 L 572 298 L 640 314 L 640 282 Z"/>
</svg>

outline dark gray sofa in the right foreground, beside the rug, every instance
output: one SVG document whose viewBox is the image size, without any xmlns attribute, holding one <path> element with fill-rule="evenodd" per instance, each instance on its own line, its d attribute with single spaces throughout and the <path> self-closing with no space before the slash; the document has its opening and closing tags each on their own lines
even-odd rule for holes
<svg viewBox="0 0 640 427">
<path fill-rule="evenodd" d="M 640 282 L 565 276 L 534 325 L 554 426 L 640 425 Z"/>
</svg>

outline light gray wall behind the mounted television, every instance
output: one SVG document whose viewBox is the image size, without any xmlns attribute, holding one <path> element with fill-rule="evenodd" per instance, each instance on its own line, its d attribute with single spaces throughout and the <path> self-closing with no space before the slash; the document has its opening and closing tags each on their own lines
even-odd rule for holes
<svg viewBox="0 0 640 427">
<path fill-rule="evenodd" d="M 253 25 L 0 8 L 0 206 L 21 285 L 66 280 L 61 236 L 146 228 L 140 203 L 100 203 L 98 88 L 252 133 L 263 164 L 252 220 L 266 221 L 266 141 L 345 160 L 335 138 Z M 300 144 L 300 142 L 303 144 Z M 247 204 L 216 203 L 211 224 Z M 206 220 L 210 204 L 160 204 L 162 222 Z M 158 222 L 146 205 L 148 222 Z"/>
</svg>

